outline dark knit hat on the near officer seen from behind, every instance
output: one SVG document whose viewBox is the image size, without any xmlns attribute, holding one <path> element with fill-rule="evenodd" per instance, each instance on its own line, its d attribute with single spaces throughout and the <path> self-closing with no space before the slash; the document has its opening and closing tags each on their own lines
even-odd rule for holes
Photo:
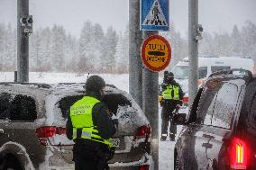
<svg viewBox="0 0 256 170">
<path fill-rule="evenodd" d="M 100 91 L 101 89 L 103 89 L 105 87 L 105 81 L 101 76 L 90 76 L 87 79 L 87 83 L 84 86 L 84 88 L 86 88 L 87 91 Z"/>
</svg>

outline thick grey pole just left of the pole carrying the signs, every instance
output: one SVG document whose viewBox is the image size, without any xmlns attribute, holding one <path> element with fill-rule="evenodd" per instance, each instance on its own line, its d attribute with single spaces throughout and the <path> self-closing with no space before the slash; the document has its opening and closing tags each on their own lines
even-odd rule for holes
<svg viewBox="0 0 256 170">
<path fill-rule="evenodd" d="M 129 93 L 142 108 L 140 0 L 129 0 Z"/>
</svg>

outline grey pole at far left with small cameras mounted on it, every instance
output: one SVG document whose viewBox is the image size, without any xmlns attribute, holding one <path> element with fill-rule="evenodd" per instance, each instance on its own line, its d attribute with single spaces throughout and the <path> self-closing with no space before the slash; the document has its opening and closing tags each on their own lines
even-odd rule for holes
<svg viewBox="0 0 256 170">
<path fill-rule="evenodd" d="M 17 71 L 18 82 L 29 82 L 29 36 L 24 33 L 22 18 L 29 15 L 29 0 L 17 0 Z"/>
</svg>

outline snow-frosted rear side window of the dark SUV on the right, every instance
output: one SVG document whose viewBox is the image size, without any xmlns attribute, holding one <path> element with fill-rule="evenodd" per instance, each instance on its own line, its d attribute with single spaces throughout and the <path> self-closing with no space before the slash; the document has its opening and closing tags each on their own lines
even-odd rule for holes
<svg viewBox="0 0 256 170">
<path fill-rule="evenodd" d="M 224 83 L 218 91 L 212 117 L 212 126 L 230 129 L 238 99 L 238 87 Z"/>
</svg>

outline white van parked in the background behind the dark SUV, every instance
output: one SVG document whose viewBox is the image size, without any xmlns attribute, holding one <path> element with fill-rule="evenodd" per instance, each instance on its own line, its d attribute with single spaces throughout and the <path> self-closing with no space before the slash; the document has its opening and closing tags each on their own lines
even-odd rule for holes
<svg viewBox="0 0 256 170">
<path fill-rule="evenodd" d="M 252 71 L 253 60 L 250 57 L 199 57 L 198 58 L 198 85 L 216 71 L 230 68 L 243 68 Z M 185 94 L 186 103 L 188 92 L 188 58 L 183 58 L 178 64 L 171 69 L 175 80 L 181 85 Z"/>
</svg>

